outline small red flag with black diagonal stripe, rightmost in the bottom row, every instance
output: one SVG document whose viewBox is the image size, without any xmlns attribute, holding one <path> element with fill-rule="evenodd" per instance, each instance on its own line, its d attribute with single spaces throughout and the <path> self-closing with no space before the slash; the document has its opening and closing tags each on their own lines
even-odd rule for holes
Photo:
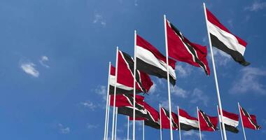
<svg viewBox="0 0 266 140">
<path fill-rule="evenodd" d="M 252 130 L 260 130 L 260 125 L 258 125 L 256 117 L 254 115 L 249 115 L 248 112 L 246 112 L 245 109 L 243 109 L 241 106 L 239 106 L 240 115 L 242 118 L 242 122 L 244 127 L 250 128 Z"/>
</svg>

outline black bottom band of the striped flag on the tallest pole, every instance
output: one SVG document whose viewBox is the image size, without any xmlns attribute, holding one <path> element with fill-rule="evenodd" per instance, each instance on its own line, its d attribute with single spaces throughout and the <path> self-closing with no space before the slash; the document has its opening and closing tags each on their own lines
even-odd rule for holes
<svg viewBox="0 0 266 140">
<path fill-rule="evenodd" d="M 238 62 L 239 64 L 243 66 L 248 66 L 249 62 L 246 62 L 243 55 L 241 55 L 240 52 L 237 52 L 236 50 L 231 50 L 226 46 L 222 41 L 220 41 L 214 34 L 211 35 L 211 43 L 214 47 L 222 50 L 223 52 L 226 52 L 228 55 L 231 55 L 231 57 L 235 60 L 235 62 Z"/>
</svg>

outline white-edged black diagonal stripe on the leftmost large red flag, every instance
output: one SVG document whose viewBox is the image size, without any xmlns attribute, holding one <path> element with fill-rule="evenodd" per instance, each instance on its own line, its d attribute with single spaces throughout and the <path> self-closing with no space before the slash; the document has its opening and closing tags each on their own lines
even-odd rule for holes
<svg viewBox="0 0 266 140">
<path fill-rule="evenodd" d="M 123 52 L 123 51 L 121 51 L 121 52 L 123 53 L 125 61 L 130 66 L 130 71 L 132 73 L 134 73 L 134 59 L 132 57 L 130 57 L 130 55 L 128 55 L 126 52 Z M 136 70 L 136 76 L 135 77 L 136 77 L 136 81 L 137 81 L 137 83 L 139 83 L 141 89 L 146 93 L 147 91 L 146 91 L 146 89 L 144 88 L 144 86 L 141 83 L 141 78 L 140 78 L 138 70 Z"/>
</svg>

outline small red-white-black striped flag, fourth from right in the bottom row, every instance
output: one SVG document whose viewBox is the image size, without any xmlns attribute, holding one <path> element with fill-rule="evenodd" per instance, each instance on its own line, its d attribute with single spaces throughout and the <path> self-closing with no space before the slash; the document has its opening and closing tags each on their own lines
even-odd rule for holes
<svg viewBox="0 0 266 140">
<path fill-rule="evenodd" d="M 179 109 L 179 123 L 181 130 L 199 130 L 199 121 L 197 121 L 197 118 L 191 117 L 183 109 Z"/>
</svg>

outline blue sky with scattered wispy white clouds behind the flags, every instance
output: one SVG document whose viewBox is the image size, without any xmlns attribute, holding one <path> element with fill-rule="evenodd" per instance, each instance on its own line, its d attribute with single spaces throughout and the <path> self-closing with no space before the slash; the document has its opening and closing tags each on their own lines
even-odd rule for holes
<svg viewBox="0 0 266 140">
<path fill-rule="evenodd" d="M 133 56 L 134 29 L 165 53 L 163 14 L 190 41 L 207 45 L 203 1 L 0 0 L 0 139 L 102 139 L 108 63 L 116 45 Z M 223 109 L 238 113 L 237 102 L 258 118 L 262 130 L 246 129 L 247 139 L 266 137 L 266 1 L 205 1 L 223 24 L 248 42 L 243 67 L 214 50 Z M 209 48 L 208 48 L 209 49 Z M 208 56 L 209 57 L 209 56 Z M 210 58 L 210 57 L 209 57 Z M 178 62 L 172 106 L 195 116 L 196 106 L 216 116 L 214 75 Z M 209 66 L 212 68 L 209 59 Z M 146 102 L 167 107 L 167 82 L 153 77 Z M 118 137 L 126 137 L 118 116 Z M 228 139 L 243 139 L 228 132 Z M 220 132 L 203 132 L 220 139 Z M 146 139 L 159 139 L 146 127 Z M 177 139 L 178 132 L 174 132 Z M 182 132 L 198 139 L 197 132 Z M 137 125 L 137 138 L 141 127 Z M 169 130 L 163 131 L 169 139 Z"/>
</svg>

